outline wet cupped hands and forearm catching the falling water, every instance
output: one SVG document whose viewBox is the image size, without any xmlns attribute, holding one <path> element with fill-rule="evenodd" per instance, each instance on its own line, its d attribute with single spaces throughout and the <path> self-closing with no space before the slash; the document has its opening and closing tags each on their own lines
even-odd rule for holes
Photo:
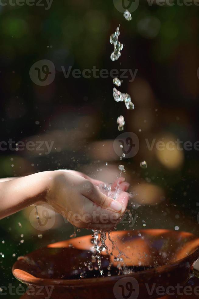
<svg viewBox="0 0 199 299">
<path fill-rule="evenodd" d="M 120 189 L 117 201 L 100 192 L 103 182 L 77 171 L 45 171 L 0 181 L 0 218 L 45 203 L 79 228 L 112 229 L 127 207 L 129 184 L 124 181 L 119 178 L 112 184 L 112 190 Z"/>
</svg>

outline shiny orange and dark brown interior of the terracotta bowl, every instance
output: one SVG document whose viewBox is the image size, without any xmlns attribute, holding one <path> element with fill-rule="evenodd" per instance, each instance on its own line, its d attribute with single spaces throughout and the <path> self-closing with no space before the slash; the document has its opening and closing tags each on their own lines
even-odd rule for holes
<svg viewBox="0 0 199 299">
<path fill-rule="evenodd" d="M 89 235 L 36 250 L 18 258 L 12 269 L 13 274 L 18 279 L 20 271 L 42 279 L 79 279 L 80 273 L 86 271 L 86 278 L 98 277 L 99 271 L 88 270 L 93 254 L 91 240 L 92 236 Z M 199 238 L 188 232 L 151 229 L 111 232 L 110 239 L 107 236 L 105 243 L 109 251 L 108 255 L 103 251 L 102 256 L 106 276 L 110 261 L 113 263 L 111 274 L 118 271 L 118 262 L 115 261 L 118 257 L 123 258 L 124 264 L 134 272 L 171 265 L 191 256 L 199 247 Z M 192 257 L 190 263 L 197 258 Z"/>
</svg>

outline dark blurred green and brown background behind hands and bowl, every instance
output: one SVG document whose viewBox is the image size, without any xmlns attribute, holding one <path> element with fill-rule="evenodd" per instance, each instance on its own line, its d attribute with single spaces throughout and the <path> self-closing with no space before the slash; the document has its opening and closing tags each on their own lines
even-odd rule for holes
<svg viewBox="0 0 199 299">
<path fill-rule="evenodd" d="M 199 8 L 194 2 L 150 6 L 141 0 L 128 22 L 111 0 L 54 0 L 49 9 L 43 3 L 0 5 L 0 139 L 54 143 L 48 154 L 0 150 L 0 176 L 68 168 L 113 182 L 123 164 L 134 195 L 129 208 L 138 214 L 130 229 L 168 228 L 198 235 L 198 151 L 149 151 L 145 139 L 199 140 Z M 109 39 L 119 24 L 124 49 L 113 62 Z M 41 59 L 56 69 L 47 86 L 33 83 L 29 75 Z M 114 101 L 111 77 L 65 78 L 61 69 L 94 66 L 138 69 L 133 82 L 128 73 L 118 88 L 131 95 L 135 110 Z M 125 118 L 124 132 L 134 132 L 140 142 L 138 154 L 122 162 L 113 150 L 119 115 Z M 140 168 L 143 160 L 147 169 Z M 32 225 L 33 209 L 0 221 L 0 286 L 19 286 L 11 273 L 18 256 L 67 239 L 74 231 L 56 215 L 53 227 L 41 232 Z M 129 228 L 120 224 L 117 229 Z M 90 233 L 81 230 L 78 236 Z"/>
</svg>

